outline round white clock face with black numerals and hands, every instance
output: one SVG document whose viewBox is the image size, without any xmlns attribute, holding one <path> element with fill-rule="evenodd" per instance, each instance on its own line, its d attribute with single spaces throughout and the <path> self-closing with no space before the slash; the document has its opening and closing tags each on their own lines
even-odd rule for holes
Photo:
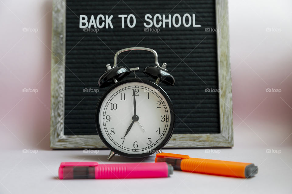
<svg viewBox="0 0 292 194">
<path fill-rule="evenodd" d="M 142 154 L 169 138 L 172 118 L 160 91 L 145 83 L 128 82 L 106 95 L 98 119 L 103 137 L 113 148 Z"/>
</svg>

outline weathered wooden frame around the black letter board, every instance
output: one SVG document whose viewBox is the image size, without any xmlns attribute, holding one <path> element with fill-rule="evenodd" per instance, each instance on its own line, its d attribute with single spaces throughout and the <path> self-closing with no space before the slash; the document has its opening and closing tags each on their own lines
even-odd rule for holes
<svg viewBox="0 0 292 194">
<path fill-rule="evenodd" d="M 232 147 L 233 119 L 229 57 L 228 1 L 215 0 L 219 81 L 220 133 L 173 134 L 165 148 Z M 51 54 L 50 147 L 53 149 L 106 148 L 98 135 L 64 135 L 66 1 L 53 1 Z"/>
</svg>

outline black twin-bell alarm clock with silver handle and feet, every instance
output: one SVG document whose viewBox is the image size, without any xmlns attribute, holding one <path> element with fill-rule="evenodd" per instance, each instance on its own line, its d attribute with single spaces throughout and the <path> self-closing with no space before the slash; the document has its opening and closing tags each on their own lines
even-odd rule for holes
<svg viewBox="0 0 292 194">
<path fill-rule="evenodd" d="M 143 72 L 154 78 L 155 82 L 136 78 L 135 71 L 139 71 L 139 67 L 128 69 L 117 66 L 118 55 L 130 50 L 154 54 L 156 65 L 145 67 Z M 98 84 L 100 88 L 110 87 L 96 106 L 95 124 L 100 139 L 111 150 L 108 160 L 115 154 L 141 158 L 161 152 L 171 138 L 175 125 L 172 102 L 158 86 L 160 82 L 175 84 L 166 63 L 160 67 L 158 55 L 153 49 L 132 47 L 116 52 L 113 67 L 107 64 L 106 68 Z M 134 72 L 135 78 L 124 79 L 130 72 Z"/>
</svg>

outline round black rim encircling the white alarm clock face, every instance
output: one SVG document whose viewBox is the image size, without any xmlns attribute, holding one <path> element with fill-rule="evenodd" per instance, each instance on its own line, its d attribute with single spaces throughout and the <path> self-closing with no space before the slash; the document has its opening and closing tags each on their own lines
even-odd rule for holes
<svg viewBox="0 0 292 194">
<path fill-rule="evenodd" d="M 166 102 L 169 105 L 169 114 L 170 114 L 170 122 L 169 122 L 169 131 L 168 133 L 165 135 L 165 139 L 158 144 L 158 146 L 155 146 L 153 149 L 150 150 L 150 152 L 145 152 L 142 154 L 129 154 L 129 153 L 125 153 L 122 152 L 120 150 L 115 149 L 113 146 L 110 145 L 109 142 L 106 141 L 106 139 L 103 137 L 103 134 L 101 132 L 100 126 L 99 126 L 99 110 L 103 104 L 103 100 L 106 98 L 106 96 L 109 94 L 109 92 L 111 92 L 113 89 L 115 89 L 116 87 L 125 84 L 125 83 L 130 83 L 130 82 L 140 82 L 140 83 L 145 83 L 148 84 L 150 86 L 152 86 L 155 89 L 158 89 L 159 92 L 161 93 L 161 95 L 164 96 Z M 142 157 L 146 157 L 146 156 L 150 156 L 151 154 L 154 154 L 154 151 L 157 151 L 159 149 L 162 149 L 165 144 L 169 141 L 169 139 L 172 136 L 173 130 L 174 130 L 174 124 L 175 124 L 175 115 L 174 115 L 174 109 L 173 109 L 173 105 L 172 102 L 169 98 L 169 96 L 166 94 L 166 92 L 157 84 L 155 84 L 154 82 L 151 82 L 149 80 L 146 79 L 139 79 L 139 78 L 131 78 L 131 79 L 125 79 L 122 80 L 120 82 L 115 83 L 114 85 L 112 85 L 109 89 L 107 89 L 103 95 L 101 96 L 101 98 L 99 99 L 97 106 L 96 106 L 96 112 L 95 112 L 95 125 L 96 125 L 96 130 L 97 133 L 100 137 L 100 139 L 102 140 L 102 142 L 106 145 L 106 147 L 108 147 L 110 150 L 112 150 L 113 152 L 115 152 L 116 154 L 120 155 L 120 156 L 125 156 L 128 158 L 142 158 Z"/>
</svg>

